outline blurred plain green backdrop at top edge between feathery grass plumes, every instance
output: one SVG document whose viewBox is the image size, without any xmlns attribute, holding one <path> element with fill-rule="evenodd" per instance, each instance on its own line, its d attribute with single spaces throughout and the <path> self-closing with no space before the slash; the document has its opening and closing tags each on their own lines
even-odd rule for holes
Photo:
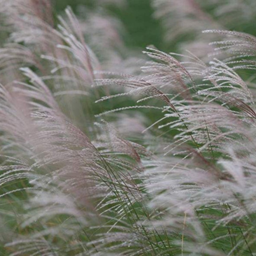
<svg viewBox="0 0 256 256">
<path fill-rule="evenodd" d="M 153 17 L 151 1 L 128 0 L 126 2 L 125 6 L 115 4 L 99 6 L 95 0 L 55 0 L 55 8 L 58 13 L 61 13 L 69 5 L 77 13 L 80 5 L 84 5 L 88 9 L 102 7 L 123 23 L 124 42 L 127 46 L 145 48 L 147 45 L 153 44 L 157 48 L 166 48 L 166 45 L 162 43 L 162 28 L 159 21 Z"/>
</svg>

